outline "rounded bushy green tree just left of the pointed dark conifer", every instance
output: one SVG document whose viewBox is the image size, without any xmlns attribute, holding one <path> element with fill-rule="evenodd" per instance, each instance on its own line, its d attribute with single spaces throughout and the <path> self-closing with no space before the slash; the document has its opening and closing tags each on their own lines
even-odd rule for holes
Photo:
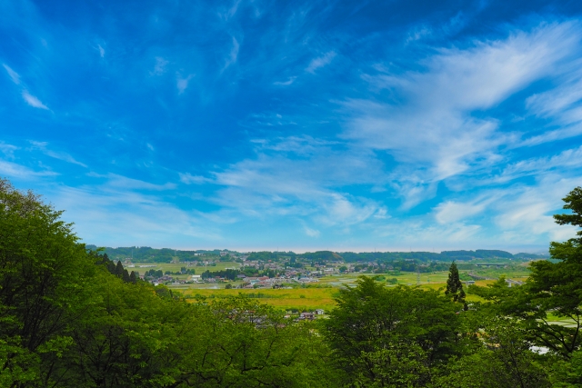
<svg viewBox="0 0 582 388">
<path fill-rule="evenodd" d="M 437 291 L 362 276 L 336 303 L 323 333 L 354 386 L 424 386 L 461 349 L 459 315 Z"/>
</svg>

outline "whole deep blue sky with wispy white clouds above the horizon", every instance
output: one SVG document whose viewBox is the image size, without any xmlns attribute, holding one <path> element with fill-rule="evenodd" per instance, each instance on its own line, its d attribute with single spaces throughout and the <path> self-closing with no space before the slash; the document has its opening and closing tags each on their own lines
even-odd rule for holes
<svg viewBox="0 0 582 388">
<path fill-rule="evenodd" d="M 547 250 L 582 3 L 0 0 L 0 176 L 88 244 Z"/>
</svg>

